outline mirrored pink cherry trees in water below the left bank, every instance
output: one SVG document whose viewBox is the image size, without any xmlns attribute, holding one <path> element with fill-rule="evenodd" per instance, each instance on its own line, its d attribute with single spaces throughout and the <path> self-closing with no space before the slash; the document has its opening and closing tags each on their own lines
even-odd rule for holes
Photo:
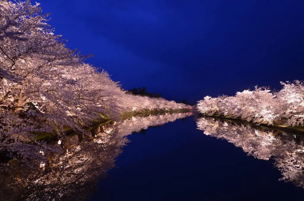
<svg viewBox="0 0 304 201">
<path fill-rule="evenodd" d="M 119 122 L 110 121 L 83 135 L 72 134 L 62 141 L 19 143 L 23 150 L 30 145 L 35 148 L 28 148 L 29 154 L 23 161 L 2 157 L 0 199 L 86 199 L 92 195 L 96 182 L 114 167 L 115 158 L 128 142 L 127 135 L 190 115 L 134 116 Z M 5 154 L 16 155 L 15 152 Z"/>
</svg>

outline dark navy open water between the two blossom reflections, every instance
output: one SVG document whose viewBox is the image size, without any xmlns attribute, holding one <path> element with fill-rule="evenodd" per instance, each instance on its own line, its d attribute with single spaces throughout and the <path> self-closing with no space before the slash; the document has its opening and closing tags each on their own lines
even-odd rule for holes
<svg viewBox="0 0 304 201">
<path fill-rule="evenodd" d="M 148 128 L 144 135 L 136 133 L 128 139 L 131 142 L 117 157 L 117 167 L 98 183 L 91 200 L 295 200 L 304 197 L 301 187 L 278 180 L 282 175 L 274 167 L 274 159 L 258 159 L 264 157 L 264 153 L 261 153 L 263 156 L 255 154 L 255 158 L 247 155 L 242 147 L 204 135 L 192 117 Z"/>
</svg>

